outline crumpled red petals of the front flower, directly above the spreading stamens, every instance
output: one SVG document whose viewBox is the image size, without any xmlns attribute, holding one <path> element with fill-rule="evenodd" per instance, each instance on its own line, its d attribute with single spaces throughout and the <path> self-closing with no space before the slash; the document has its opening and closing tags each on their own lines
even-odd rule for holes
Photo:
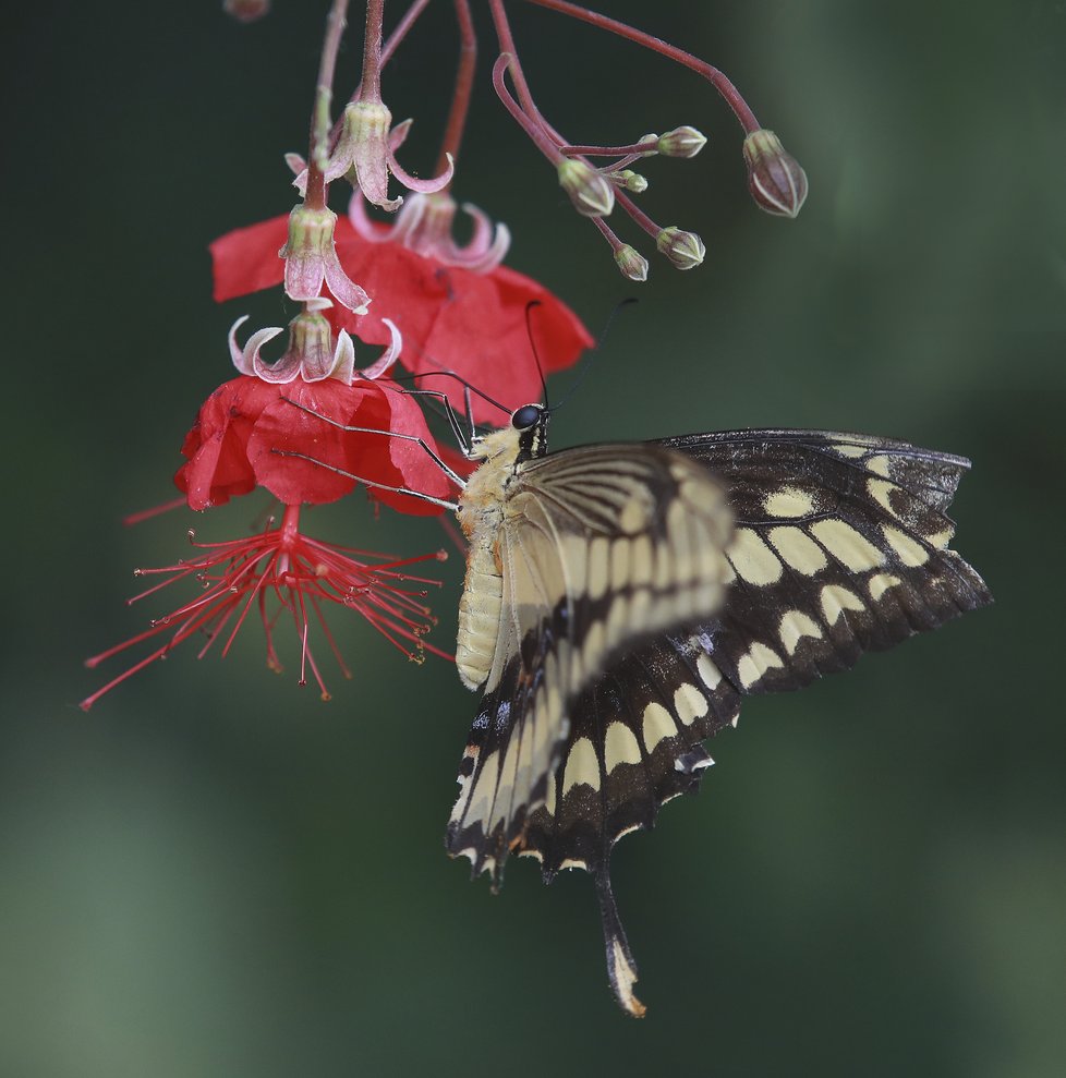
<svg viewBox="0 0 1066 1078">
<path fill-rule="evenodd" d="M 416 443 L 341 426 L 397 432 L 434 446 L 416 401 L 392 383 L 296 377 L 279 385 L 241 375 L 219 386 L 201 408 L 182 446 L 186 463 L 174 482 L 191 509 L 222 505 L 256 486 L 287 506 L 320 505 L 350 494 L 356 477 L 452 497 L 455 488 Z M 300 456 L 287 456 L 292 453 Z M 367 489 L 403 512 L 440 512 L 439 506 L 410 495 Z"/>
</svg>

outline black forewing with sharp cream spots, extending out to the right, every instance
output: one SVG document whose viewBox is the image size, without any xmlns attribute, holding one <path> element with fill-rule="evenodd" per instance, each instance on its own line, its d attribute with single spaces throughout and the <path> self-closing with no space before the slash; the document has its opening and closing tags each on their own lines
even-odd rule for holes
<svg viewBox="0 0 1066 1078">
<path fill-rule="evenodd" d="M 803 431 L 664 444 L 719 477 L 736 517 L 734 580 L 705 635 L 742 692 L 799 688 L 990 602 L 948 548 L 961 457 Z"/>
</svg>

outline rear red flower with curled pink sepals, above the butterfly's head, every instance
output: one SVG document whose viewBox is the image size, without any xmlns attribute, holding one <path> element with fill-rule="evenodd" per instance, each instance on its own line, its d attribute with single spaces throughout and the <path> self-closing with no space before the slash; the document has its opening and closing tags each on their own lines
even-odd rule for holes
<svg viewBox="0 0 1066 1078">
<path fill-rule="evenodd" d="M 484 231 L 484 218 L 476 210 L 469 211 L 475 218 L 476 242 Z M 363 316 L 339 308 L 327 316 L 338 329 L 358 327 L 360 339 L 375 344 L 390 341 L 386 319 L 391 320 L 403 335 L 401 362 L 414 374 L 455 372 L 507 410 L 540 400 L 534 348 L 547 374 L 574 363 L 592 338 L 561 300 L 529 277 L 498 265 L 498 258 L 485 257 L 490 252 L 501 256 L 506 242 L 489 245 L 486 241 L 472 257 L 465 257 L 451 242 L 453 213 L 455 203 L 447 195 L 413 195 L 400 210 L 395 229 L 365 221 L 359 209 L 353 215 L 359 230 L 351 220 L 340 218 L 335 233 L 337 255 L 372 302 Z M 411 225 L 414 215 L 419 215 L 416 223 Z M 283 267 L 277 250 L 287 230 L 288 218 L 276 217 L 216 240 L 211 244 L 215 299 L 221 302 L 280 283 Z M 528 316 L 531 302 L 538 306 Z M 448 392 L 461 407 L 462 388 L 453 379 L 429 378 L 422 384 Z M 481 422 L 500 424 L 506 419 L 481 401 L 474 408 Z"/>
</svg>

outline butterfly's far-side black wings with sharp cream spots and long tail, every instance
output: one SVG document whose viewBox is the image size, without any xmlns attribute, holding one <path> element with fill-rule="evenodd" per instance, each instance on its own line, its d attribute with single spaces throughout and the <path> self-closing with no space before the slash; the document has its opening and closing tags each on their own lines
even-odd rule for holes
<svg viewBox="0 0 1066 1078">
<path fill-rule="evenodd" d="M 614 844 L 654 824 L 658 808 L 695 790 L 702 741 L 736 725 L 747 693 L 797 689 L 991 602 L 948 543 L 946 516 L 969 462 L 906 443 L 804 431 L 738 431 L 657 445 L 700 461 L 725 487 L 735 532 L 720 610 L 698 625 L 633 638 L 586 681 L 543 802 L 512 838 L 545 881 L 584 868 L 596 881 L 611 986 L 643 1006 L 608 875 Z M 550 459 L 550 458 L 549 458 Z M 554 638 L 530 655 L 534 679 Z M 538 657 L 540 656 L 540 659 Z M 516 676 L 483 702 L 471 743 L 516 704 Z M 479 729 L 479 723 L 481 729 Z"/>
</svg>

